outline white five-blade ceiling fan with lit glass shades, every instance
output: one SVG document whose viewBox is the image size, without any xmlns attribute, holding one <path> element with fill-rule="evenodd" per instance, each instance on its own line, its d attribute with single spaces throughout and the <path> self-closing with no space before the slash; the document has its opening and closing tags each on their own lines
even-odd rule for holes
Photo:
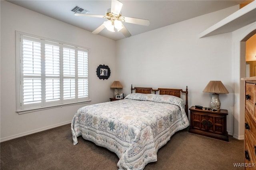
<svg viewBox="0 0 256 170">
<path fill-rule="evenodd" d="M 104 28 L 111 32 L 115 32 L 115 29 L 119 32 L 121 31 L 122 34 L 126 38 L 130 37 L 130 32 L 125 28 L 125 26 L 122 24 L 122 22 L 128 22 L 132 24 L 138 24 L 142 26 L 149 26 L 150 22 L 149 20 L 139 19 L 139 18 L 131 18 L 122 16 L 121 9 L 122 9 L 122 2 L 118 0 L 112 0 L 111 1 L 111 9 L 108 9 L 106 12 L 106 15 L 95 15 L 95 14 L 74 14 L 75 16 L 90 16 L 90 17 L 98 17 L 98 18 L 106 18 L 107 21 L 103 22 L 101 26 L 96 28 L 92 33 L 98 34 L 101 32 Z"/>
</svg>

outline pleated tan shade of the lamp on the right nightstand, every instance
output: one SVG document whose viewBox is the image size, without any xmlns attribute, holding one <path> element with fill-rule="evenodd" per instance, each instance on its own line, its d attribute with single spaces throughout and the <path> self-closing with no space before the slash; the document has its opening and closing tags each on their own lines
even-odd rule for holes
<svg viewBox="0 0 256 170">
<path fill-rule="evenodd" d="M 208 93 L 229 93 L 221 81 L 210 81 L 203 92 Z"/>
</svg>

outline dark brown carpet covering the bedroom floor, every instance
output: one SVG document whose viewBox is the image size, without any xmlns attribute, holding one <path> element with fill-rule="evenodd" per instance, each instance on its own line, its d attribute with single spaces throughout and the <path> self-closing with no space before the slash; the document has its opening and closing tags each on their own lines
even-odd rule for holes
<svg viewBox="0 0 256 170">
<path fill-rule="evenodd" d="M 242 170 L 244 140 L 229 142 L 176 132 L 158 150 L 158 161 L 144 170 Z M 118 156 L 78 137 L 73 145 L 70 124 L 0 143 L 1 170 L 118 170 Z"/>
</svg>

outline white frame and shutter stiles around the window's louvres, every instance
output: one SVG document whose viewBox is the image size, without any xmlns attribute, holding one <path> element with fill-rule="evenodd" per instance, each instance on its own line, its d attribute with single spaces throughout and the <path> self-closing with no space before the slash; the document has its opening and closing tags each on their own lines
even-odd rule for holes
<svg viewBox="0 0 256 170">
<path fill-rule="evenodd" d="M 44 84 L 41 84 L 41 102 L 36 104 L 26 104 L 26 107 L 24 107 L 23 102 L 23 63 L 22 63 L 22 50 L 23 50 L 23 42 L 22 42 L 22 36 L 26 36 L 28 38 L 32 39 L 39 39 L 41 42 L 41 82 Z M 43 43 L 42 43 L 43 42 Z M 46 85 L 46 74 L 45 74 L 45 44 L 47 42 L 52 42 L 54 44 L 59 44 L 60 48 L 60 100 L 58 101 L 47 101 L 46 102 L 46 96 L 45 96 L 45 85 Z M 75 49 L 75 98 L 74 99 L 64 99 L 63 98 L 63 80 L 64 80 L 64 73 L 63 73 L 63 48 L 64 47 L 73 47 Z M 79 50 L 80 49 L 80 50 Z M 88 97 L 78 97 L 78 50 L 84 51 L 87 53 L 87 67 L 88 67 Z M 34 111 L 40 111 L 44 109 L 52 109 L 56 107 L 62 107 L 62 106 L 70 106 L 70 105 L 80 105 L 84 103 L 90 103 L 90 49 L 86 47 L 81 47 L 79 45 L 73 45 L 66 42 L 60 42 L 58 40 L 51 40 L 48 38 L 43 38 L 40 36 L 34 36 L 31 34 L 23 33 L 16 31 L 16 112 L 18 114 L 24 114 L 24 113 L 30 113 Z M 86 77 L 86 76 L 85 76 Z M 44 79 L 44 81 L 42 81 Z M 43 90 L 44 89 L 44 90 Z M 48 105 L 45 105 L 45 103 L 48 103 Z M 50 105 L 49 105 L 50 103 Z"/>
</svg>

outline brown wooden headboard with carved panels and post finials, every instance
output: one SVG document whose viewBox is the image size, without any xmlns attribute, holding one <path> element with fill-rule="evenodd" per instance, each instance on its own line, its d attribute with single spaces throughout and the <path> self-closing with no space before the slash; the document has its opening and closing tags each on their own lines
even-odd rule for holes
<svg viewBox="0 0 256 170">
<path fill-rule="evenodd" d="M 188 117 L 188 86 L 186 87 L 186 91 L 183 91 L 182 89 L 152 89 L 151 87 L 131 87 L 131 93 L 135 90 L 135 93 L 144 93 L 144 94 L 156 94 L 157 91 L 159 91 L 159 95 L 172 95 L 176 97 L 180 97 L 180 93 L 186 94 L 186 103 L 185 103 L 185 111 L 186 115 Z"/>
</svg>

